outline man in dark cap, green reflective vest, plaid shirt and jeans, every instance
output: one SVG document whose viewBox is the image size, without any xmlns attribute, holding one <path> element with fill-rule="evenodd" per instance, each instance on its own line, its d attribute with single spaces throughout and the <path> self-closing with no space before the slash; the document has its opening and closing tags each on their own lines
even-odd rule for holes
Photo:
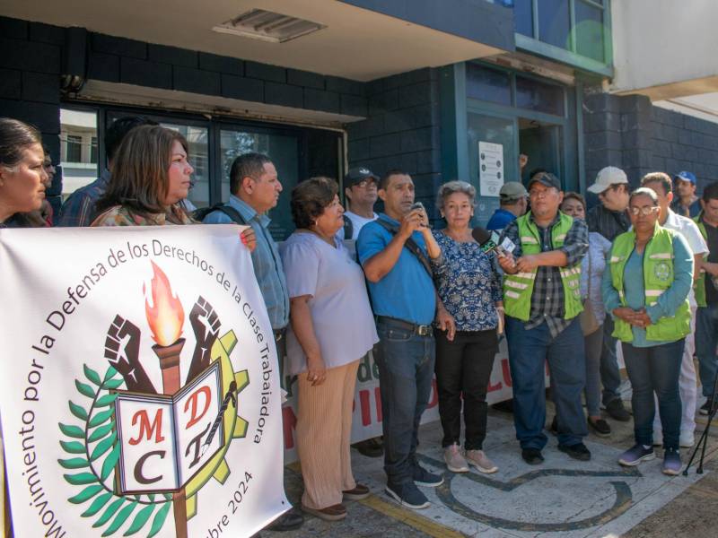
<svg viewBox="0 0 718 538">
<path fill-rule="evenodd" d="M 548 361 L 558 419 L 558 449 L 591 459 L 581 395 L 586 377 L 579 282 L 589 247 L 586 223 L 558 211 L 561 183 L 541 172 L 530 179 L 531 211 L 503 230 L 515 245 L 498 256 L 513 386 L 513 421 L 527 464 L 540 464 L 547 437 L 544 364 Z M 514 257 L 515 256 L 515 257 Z"/>
</svg>

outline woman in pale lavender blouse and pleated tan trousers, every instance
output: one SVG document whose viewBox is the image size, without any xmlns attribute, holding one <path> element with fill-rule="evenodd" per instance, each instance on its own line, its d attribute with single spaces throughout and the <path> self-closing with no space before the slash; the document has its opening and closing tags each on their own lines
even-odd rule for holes
<svg viewBox="0 0 718 538">
<path fill-rule="evenodd" d="M 369 495 L 355 482 L 349 444 L 359 360 L 379 340 L 362 268 L 335 238 L 344 226 L 337 189 L 329 178 L 294 187 L 297 230 L 280 251 L 290 297 L 287 369 L 299 386 L 302 509 L 326 521 L 346 517 L 343 499 Z"/>
</svg>

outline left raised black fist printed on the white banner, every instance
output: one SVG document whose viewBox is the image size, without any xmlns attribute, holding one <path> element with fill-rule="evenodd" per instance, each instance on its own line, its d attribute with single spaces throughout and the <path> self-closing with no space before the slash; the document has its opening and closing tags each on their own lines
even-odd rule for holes
<svg viewBox="0 0 718 538">
<path fill-rule="evenodd" d="M 127 390 L 157 394 L 140 363 L 140 330 L 124 317 L 115 316 L 109 325 L 105 359 L 125 378 Z"/>
</svg>

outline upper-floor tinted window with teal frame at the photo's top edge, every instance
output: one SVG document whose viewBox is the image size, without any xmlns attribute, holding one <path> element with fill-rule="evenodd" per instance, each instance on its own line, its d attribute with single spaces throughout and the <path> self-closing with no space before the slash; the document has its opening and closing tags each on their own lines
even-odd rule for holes
<svg viewBox="0 0 718 538">
<path fill-rule="evenodd" d="M 608 8 L 607 0 L 515 0 L 516 33 L 609 64 L 605 50 L 610 39 Z"/>
</svg>

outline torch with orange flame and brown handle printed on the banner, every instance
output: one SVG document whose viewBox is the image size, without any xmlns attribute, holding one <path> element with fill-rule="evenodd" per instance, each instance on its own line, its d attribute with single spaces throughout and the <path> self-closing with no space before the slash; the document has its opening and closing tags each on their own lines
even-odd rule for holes
<svg viewBox="0 0 718 538">
<path fill-rule="evenodd" d="M 185 312 L 180 299 L 172 294 L 167 275 L 152 263 L 152 305 L 145 299 L 144 313 L 156 342 L 152 349 L 160 360 L 162 394 L 174 395 L 180 390 L 180 352 L 185 339 L 181 338 Z M 147 291 L 143 291 L 145 298 Z M 172 494 L 172 508 L 177 538 L 187 538 L 187 499 L 184 488 Z"/>
</svg>

